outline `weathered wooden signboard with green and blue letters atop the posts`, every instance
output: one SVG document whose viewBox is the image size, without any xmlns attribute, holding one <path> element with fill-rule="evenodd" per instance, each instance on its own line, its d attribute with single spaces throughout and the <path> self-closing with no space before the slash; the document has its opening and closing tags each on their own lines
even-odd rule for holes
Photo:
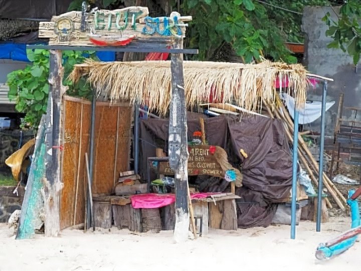
<svg viewBox="0 0 361 271">
<path fill-rule="evenodd" d="M 184 37 L 188 26 L 184 22 L 192 21 L 191 16 L 176 12 L 158 18 L 148 14 L 144 7 L 68 12 L 40 22 L 39 38 L 49 38 L 49 45 L 70 46 L 119 46 L 159 37 L 171 43 L 175 37 Z"/>
</svg>

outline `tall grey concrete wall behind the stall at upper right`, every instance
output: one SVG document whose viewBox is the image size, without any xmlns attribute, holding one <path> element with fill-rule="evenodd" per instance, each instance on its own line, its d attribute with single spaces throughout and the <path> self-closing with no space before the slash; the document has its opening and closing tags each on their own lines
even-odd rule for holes
<svg viewBox="0 0 361 271">
<path fill-rule="evenodd" d="M 338 13 L 339 8 L 333 10 Z M 326 135 L 333 134 L 336 112 L 338 107 L 338 97 L 345 88 L 344 106 L 361 107 L 359 92 L 361 90 L 361 65 L 356 73 L 356 66 L 353 65 L 352 58 L 340 49 L 328 49 L 327 44 L 332 40 L 326 37 L 327 26 L 321 21 L 327 12 L 332 19 L 337 17 L 330 7 L 305 7 L 302 18 L 302 29 L 305 33 L 305 54 L 304 65 L 310 73 L 330 77 L 334 82 L 328 83 L 327 101 L 335 101 L 329 111 L 326 112 Z M 314 90 L 310 90 L 308 98 L 311 100 L 321 100 L 322 86 L 319 85 Z M 348 112 L 345 111 L 345 114 Z M 361 112 L 360 112 L 361 113 Z M 305 129 L 319 131 L 320 119 L 306 125 Z"/>
</svg>

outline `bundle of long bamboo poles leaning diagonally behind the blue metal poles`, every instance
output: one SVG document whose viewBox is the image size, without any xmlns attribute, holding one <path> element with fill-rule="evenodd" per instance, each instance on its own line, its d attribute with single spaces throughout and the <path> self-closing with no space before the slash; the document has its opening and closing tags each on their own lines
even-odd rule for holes
<svg viewBox="0 0 361 271">
<path fill-rule="evenodd" d="M 286 136 L 290 142 L 293 143 L 293 120 L 291 119 L 290 115 L 288 114 L 286 108 L 284 107 L 283 103 L 276 96 L 277 99 L 277 106 L 273 108 L 266 104 L 266 108 L 268 113 L 272 118 L 279 118 L 283 120 L 283 124 L 286 131 Z M 315 187 L 318 187 L 318 173 L 319 173 L 319 165 L 314 159 L 313 155 L 311 154 L 310 150 L 308 149 L 307 145 L 303 141 L 300 134 L 298 134 L 298 159 L 301 163 L 301 166 L 304 170 L 309 174 L 313 184 Z M 337 206 L 342 210 L 345 209 L 346 206 L 346 199 L 342 195 L 340 191 L 335 187 L 335 185 L 330 181 L 327 175 L 322 172 L 323 176 L 323 187 L 327 190 L 329 196 L 331 196 Z M 326 204 L 328 208 L 332 208 L 331 203 L 329 202 L 328 198 L 326 198 Z"/>
</svg>

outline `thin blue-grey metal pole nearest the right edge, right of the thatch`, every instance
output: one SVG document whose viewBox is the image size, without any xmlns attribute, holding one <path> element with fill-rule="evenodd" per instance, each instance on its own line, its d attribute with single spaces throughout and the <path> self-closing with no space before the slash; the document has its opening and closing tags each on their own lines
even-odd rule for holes
<svg viewBox="0 0 361 271">
<path fill-rule="evenodd" d="M 323 190 L 323 151 L 324 151 L 324 131 L 325 131 L 325 113 L 326 113 L 326 94 L 327 82 L 323 82 L 322 91 L 322 108 L 321 108 L 321 137 L 320 137 L 320 156 L 319 156 L 319 169 L 318 169 L 318 195 L 317 195 L 317 218 L 316 218 L 316 231 L 321 230 L 321 209 L 322 209 L 322 190 Z"/>
</svg>

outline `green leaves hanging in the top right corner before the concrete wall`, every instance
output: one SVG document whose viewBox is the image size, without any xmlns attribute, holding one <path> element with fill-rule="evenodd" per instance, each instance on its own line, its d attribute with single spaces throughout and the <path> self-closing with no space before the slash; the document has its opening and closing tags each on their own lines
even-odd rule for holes
<svg viewBox="0 0 361 271">
<path fill-rule="evenodd" d="M 335 14 L 335 13 L 334 13 Z M 326 36 L 333 39 L 328 48 L 339 48 L 353 58 L 357 64 L 361 53 L 361 26 L 358 23 L 361 16 L 361 3 L 359 0 L 349 0 L 340 9 L 340 14 L 335 14 L 337 19 L 332 20 L 327 13 L 322 21 L 328 26 Z"/>
</svg>

